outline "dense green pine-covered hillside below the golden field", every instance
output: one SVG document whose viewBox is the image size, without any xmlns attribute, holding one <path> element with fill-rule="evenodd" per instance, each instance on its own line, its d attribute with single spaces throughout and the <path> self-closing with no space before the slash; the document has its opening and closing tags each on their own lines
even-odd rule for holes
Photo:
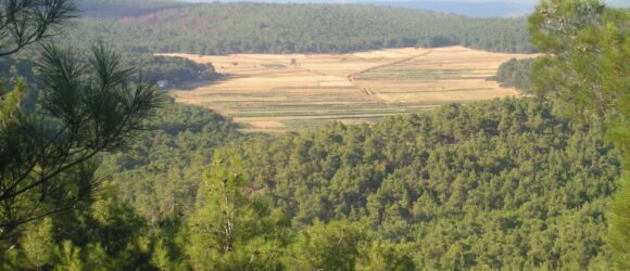
<svg viewBox="0 0 630 271">
<path fill-rule="evenodd" d="M 610 268 L 604 210 L 619 152 L 602 126 L 572 124 L 545 102 L 452 104 L 281 137 L 239 134 L 202 108 L 163 111 L 158 129 L 100 169 L 117 172 L 131 221 L 146 220 L 119 241 L 146 250 L 125 257 L 196 270 L 209 259 L 211 269 Z M 213 233 L 220 221 L 236 223 L 232 235 Z M 213 245 L 224 242 L 229 253 Z"/>
</svg>

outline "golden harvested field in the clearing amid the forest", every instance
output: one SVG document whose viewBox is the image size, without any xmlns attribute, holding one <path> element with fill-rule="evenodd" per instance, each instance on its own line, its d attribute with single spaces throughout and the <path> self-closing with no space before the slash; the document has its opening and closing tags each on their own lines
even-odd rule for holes
<svg viewBox="0 0 630 271">
<path fill-rule="evenodd" d="M 374 121 L 383 116 L 516 96 L 487 80 L 509 59 L 463 47 L 386 49 L 349 54 L 164 54 L 212 63 L 230 76 L 175 90 L 181 103 L 230 116 L 244 131 L 281 132 Z"/>
</svg>

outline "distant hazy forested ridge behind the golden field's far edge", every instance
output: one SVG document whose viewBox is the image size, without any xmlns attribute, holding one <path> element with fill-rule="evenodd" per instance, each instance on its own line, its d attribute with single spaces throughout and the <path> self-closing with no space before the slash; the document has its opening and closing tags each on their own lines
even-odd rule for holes
<svg viewBox="0 0 630 271">
<path fill-rule="evenodd" d="M 215 2 L 143 15 L 89 16 L 76 25 L 70 35 L 74 43 L 104 37 L 133 52 L 340 53 L 455 44 L 534 51 L 524 17 L 469 18 L 369 5 Z"/>
</svg>

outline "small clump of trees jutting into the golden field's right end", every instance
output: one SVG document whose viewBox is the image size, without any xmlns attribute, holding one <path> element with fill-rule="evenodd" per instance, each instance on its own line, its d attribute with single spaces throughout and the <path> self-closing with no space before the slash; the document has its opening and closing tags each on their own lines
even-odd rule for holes
<svg viewBox="0 0 630 271">
<path fill-rule="evenodd" d="M 516 88 L 520 91 L 531 91 L 531 66 L 534 60 L 512 59 L 499 67 L 496 81 L 504 88 Z"/>
</svg>

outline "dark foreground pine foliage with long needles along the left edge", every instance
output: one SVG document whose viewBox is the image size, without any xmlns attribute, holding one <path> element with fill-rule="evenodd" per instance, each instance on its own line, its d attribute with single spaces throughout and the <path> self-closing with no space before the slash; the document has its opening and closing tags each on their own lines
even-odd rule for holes
<svg viewBox="0 0 630 271">
<path fill-rule="evenodd" d="M 58 34 L 73 12 L 66 0 L 3 1 L 0 56 Z M 0 80 L 0 269 L 142 269 L 146 222 L 126 204 L 93 202 L 102 184 L 93 157 L 124 146 L 163 93 L 133 81 L 133 69 L 103 43 L 92 47 L 89 63 L 54 44 L 40 50 L 37 73 L 17 59 L 0 65 L 12 77 Z M 28 107 L 20 76 L 34 75 L 41 98 Z"/>
</svg>

